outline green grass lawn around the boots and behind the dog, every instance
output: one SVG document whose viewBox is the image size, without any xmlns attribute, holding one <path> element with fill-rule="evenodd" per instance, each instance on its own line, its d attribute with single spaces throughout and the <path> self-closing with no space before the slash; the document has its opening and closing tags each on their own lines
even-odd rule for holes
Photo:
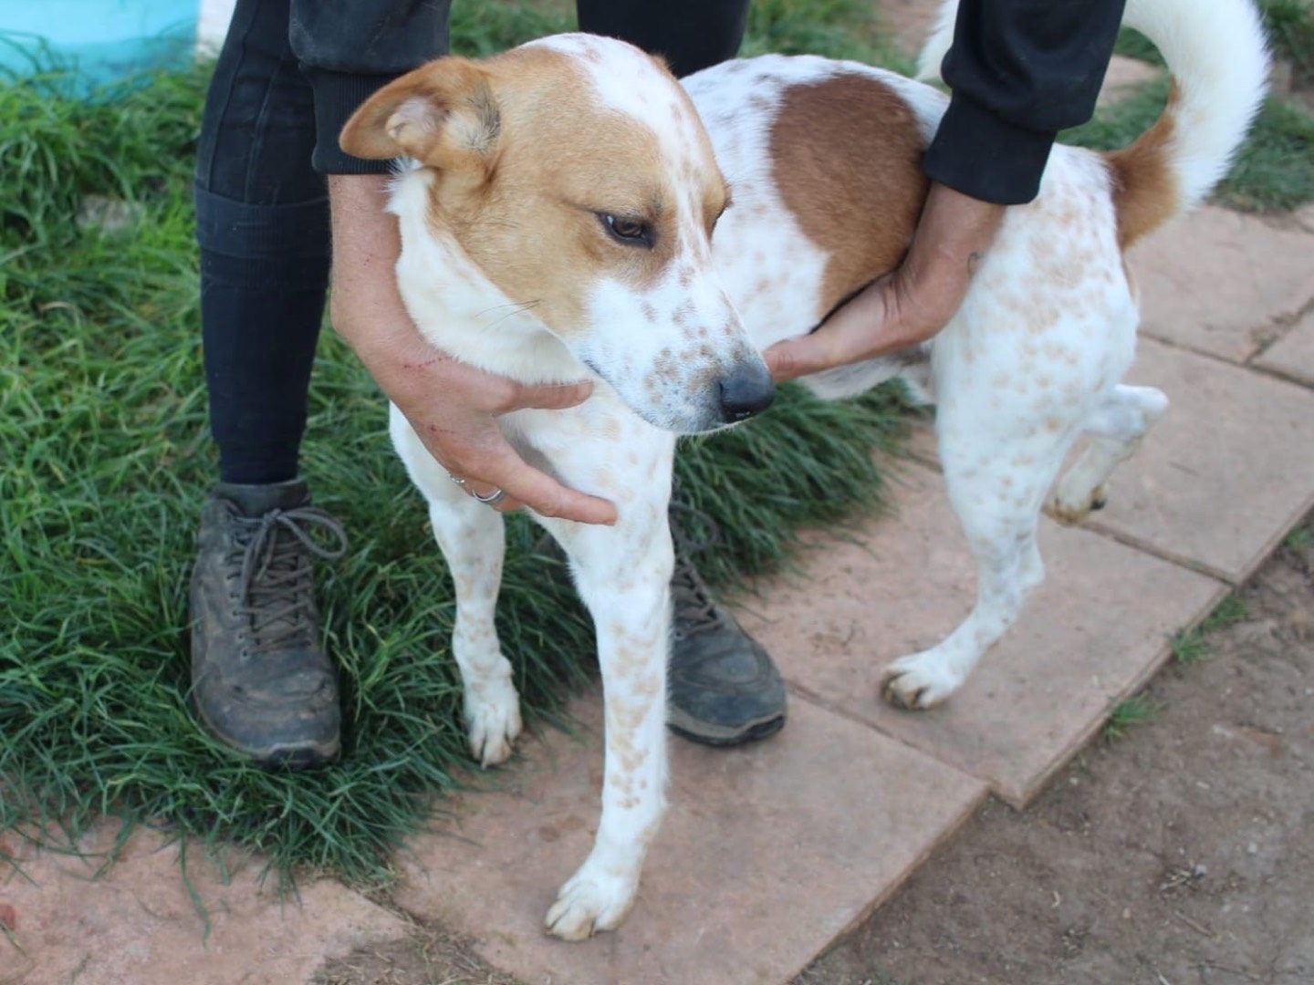
<svg viewBox="0 0 1314 985">
<path fill-rule="evenodd" d="M 870 9 L 761 0 L 745 47 L 900 64 Z M 557 3 L 456 13 L 466 54 L 570 26 Z M 321 591 L 343 666 L 344 755 L 315 774 L 247 767 L 187 709 L 187 578 L 214 478 L 189 197 L 205 72 L 91 102 L 45 81 L 0 84 L 0 829 L 66 838 L 117 814 L 261 850 L 280 873 L 384 881 L 392 848 L 442 793 L 477 780 L 447 657 L 448 577 L 390 452 L 384 401 L 325 332 L 304 474 L 352 537 Z M 1309 118 L 1292 120 L 1265 173 L 1314 158 Z M 1282 194 L 1243 179 L 1236 194 L 1252 205 L 1314 194 L 1307 177 Z M 126 227 L 80 225 L 89 196 L 127 202 Z M 895 445 L 900 422 L 890 394 L 820 405 L 786 387 L 750 427 L 686 443 L 686 495 L 721 531 L 704 573 L 742 586 L 782 562 L 800 525 L 874 508 L 883 479 L 869 449 Z M 531 557 L 533 538 L 512 520 L 501 633 L 541 724 L 591 675 L 593 642 L 562 569 Z"/>
</svg>

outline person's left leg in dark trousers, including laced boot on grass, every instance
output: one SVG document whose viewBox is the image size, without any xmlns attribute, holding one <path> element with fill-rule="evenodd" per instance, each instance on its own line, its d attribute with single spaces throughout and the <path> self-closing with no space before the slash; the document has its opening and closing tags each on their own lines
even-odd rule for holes
<svg viewBox="0 0 1314 985">
<path fill-rule="evenodd" d="M 309 766 L 339 746 L 297 477 L 328 284 L 328 198 L 310 165 L 314 104 L 288 45 L 289 0 L 239 0 L 205 102 L 196 235 L 219 483 L 192 577 L 192 699 L 222 742 Z"/>
</svg>

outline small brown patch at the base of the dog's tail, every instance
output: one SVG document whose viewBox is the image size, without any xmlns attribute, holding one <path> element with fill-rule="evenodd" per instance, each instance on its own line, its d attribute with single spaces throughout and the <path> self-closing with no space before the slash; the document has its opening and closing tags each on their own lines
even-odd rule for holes
<svg viewBox="0 0 1314 985">
<path fill-rule="evenodd" d="M 1176 137 L 1172 112 L 1180 97 L 1177 83 L 1168 108 L 1130 147 L 1105 155 L 1113 177 L 1113 204 L 1118 214 L 1118 246 L 1126 250 L 1177 214 L 1180 193 L 1168 163 L 1168 144 Z"/>
</svg>

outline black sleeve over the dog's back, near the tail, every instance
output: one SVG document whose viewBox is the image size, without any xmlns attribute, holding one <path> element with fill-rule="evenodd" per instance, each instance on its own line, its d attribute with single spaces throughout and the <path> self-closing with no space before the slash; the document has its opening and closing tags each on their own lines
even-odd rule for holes
<svg viewBox="0 0 1314 985">
<path fill-rule="evenodd" d="M 953 96 L 926 173 L 983 201 L 1031 201 L 1058 131 L 1095 112 L 1123 4 L 962 0 L 941 67 Z"/>
</svg>

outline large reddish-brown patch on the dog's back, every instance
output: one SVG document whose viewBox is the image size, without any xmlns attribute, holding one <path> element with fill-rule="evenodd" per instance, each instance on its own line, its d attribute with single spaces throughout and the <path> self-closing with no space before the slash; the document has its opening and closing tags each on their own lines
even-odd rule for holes
<svg viewBox="0 0 1314 985">
<path fill-rule="evenodd" d="M 924 150 L 912 110 L 876 79 L 836 75 L 786 92 L 771 127 L 773 177 L 829 253 L 823 311 L 903 259 L 926 197 Z"/>
</svg>

